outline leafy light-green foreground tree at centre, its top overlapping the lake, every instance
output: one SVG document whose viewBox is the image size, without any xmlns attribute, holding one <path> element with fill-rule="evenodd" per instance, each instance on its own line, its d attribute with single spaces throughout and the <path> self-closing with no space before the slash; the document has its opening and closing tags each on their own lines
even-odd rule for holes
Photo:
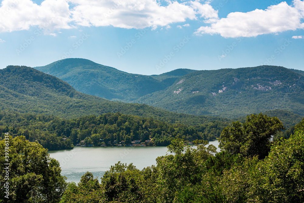
<svg viewBox="0 0 304 203">
<path fill-rule="evenodd" d="M 195 140 L 197 149 L 185 145 L 183 141 L 177 136 L 168 146 L 168 151 L 174 155 L 159 156 L 156 159 L 159 170 L 160 202 L 193 201 L 196 195 L 194 186 L 201 181 L 203 162 L 216 152 L 213 145 L 205 147 L 207 141 Z"/>
</svg>

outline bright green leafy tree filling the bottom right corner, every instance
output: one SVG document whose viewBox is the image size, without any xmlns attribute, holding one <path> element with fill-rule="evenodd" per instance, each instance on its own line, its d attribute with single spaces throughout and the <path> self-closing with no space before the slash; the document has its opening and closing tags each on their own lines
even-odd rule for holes
<svg viewBox="0 0 304 203">
<path fill-rule="evenodd" d="M 304 201 L 304 119 L 295 134 L 281 139 L 260 163 L 262 190 L 266 202 Z"/>
</svg>

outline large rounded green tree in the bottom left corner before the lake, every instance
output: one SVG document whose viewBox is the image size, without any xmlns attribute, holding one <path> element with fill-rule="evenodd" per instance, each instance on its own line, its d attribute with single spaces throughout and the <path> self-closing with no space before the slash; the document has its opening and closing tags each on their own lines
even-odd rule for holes
<svg viewBox="0 0 304 203">
<path fill-rule="evenodd" d="M 9 142 L 5 142 L 9 140 Z M 0 184 L 5 183 L 5 169 L 8 163 L 4 159 L 6 143 L 9 143 L 9 199 L 7 202 L 55 203 L 67 186 L 65 177 L 60 175 L 61 169 L 56 159 L 50 158 L 47 149 L 38 142 L 29 142 L 24 136 L 0 141 Z M 0 194 L 5 196 L 5 188 Z"/>
</svg>

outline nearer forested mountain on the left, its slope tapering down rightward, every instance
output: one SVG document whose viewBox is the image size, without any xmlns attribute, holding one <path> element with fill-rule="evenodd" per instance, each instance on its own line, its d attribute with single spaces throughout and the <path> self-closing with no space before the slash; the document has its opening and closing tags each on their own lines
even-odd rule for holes
<svg viewBox="0 0 304 203">
<path fill-rule="evenodd" d="M 8 66 L 0 70 L 0 103 L 2 110 L 53 114 L 61 118 L 120 112 L 189 125 L 228 121 L 216 117 L 177 114 L 146 104 L 109 101 L 80 93 L 67 82 L 26 66 Z"/>
</svg>

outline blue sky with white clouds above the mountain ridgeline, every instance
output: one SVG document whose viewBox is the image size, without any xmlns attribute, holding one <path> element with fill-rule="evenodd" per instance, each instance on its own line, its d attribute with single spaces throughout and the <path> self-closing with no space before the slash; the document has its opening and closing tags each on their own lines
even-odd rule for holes
<svg viewBox="0 0 304 203">
<path fill-rule="evenodd" d="M 304 0 L 2 0 L 0 68 L 85 58 L 143 75 L 304 71 L 303 29 Z"/>
</svg>

